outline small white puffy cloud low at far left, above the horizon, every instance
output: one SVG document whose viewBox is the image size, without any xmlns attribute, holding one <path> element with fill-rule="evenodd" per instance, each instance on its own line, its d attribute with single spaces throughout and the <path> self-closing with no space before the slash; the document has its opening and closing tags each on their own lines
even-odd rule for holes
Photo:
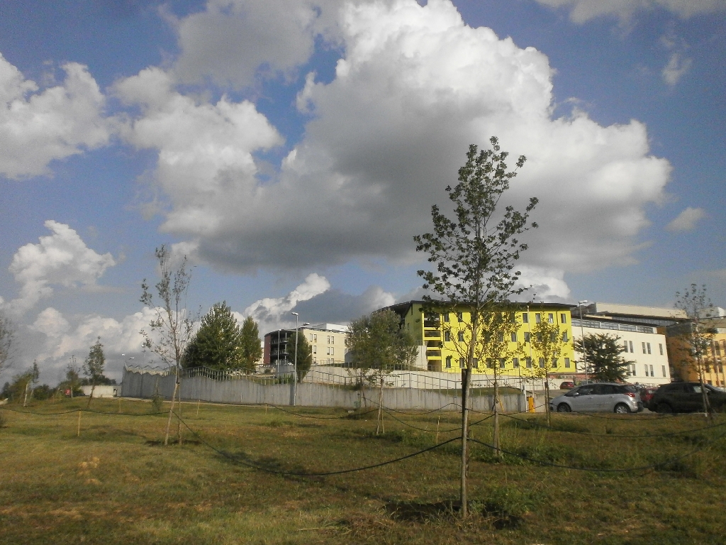
<svg viewBox="0 0 726 545">
<path fill-rule="evenodd" d="M 53 286 L 95 286 L 115 261 L 111 254 L 98 254 L 68 225 L 49 219 L 44 224 L 52 235 L 37 244 L 21 246 L 9 271 L 20 283 L 20 296 L 4 304 L 9 312 L 22 314 L 53 293 Z"/>
</svg>

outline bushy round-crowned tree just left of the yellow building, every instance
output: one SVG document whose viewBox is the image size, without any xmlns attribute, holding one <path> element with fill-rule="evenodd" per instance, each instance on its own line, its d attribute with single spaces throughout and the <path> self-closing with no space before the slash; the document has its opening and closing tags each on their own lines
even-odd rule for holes
<svg viewBox="0 0 726 545">
<path fill-rule="evenodd" d="M 367 384 L 380 387 L 378 426 L 375 430 L 378 435 L 386 376 L 394 370 L 412 368 L 418 347 L 409 331 L 401 328 L 401 319 L 393 310 L 372 312 L 351 321 L 346 347 L 350 352 L 351 364 L 359 373 L 360 386 L 364 388 Z"/>
</svg>

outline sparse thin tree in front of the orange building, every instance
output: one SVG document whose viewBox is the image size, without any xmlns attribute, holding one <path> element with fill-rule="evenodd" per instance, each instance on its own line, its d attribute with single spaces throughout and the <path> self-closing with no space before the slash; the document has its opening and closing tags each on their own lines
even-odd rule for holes
<svg viewBox="0 0 726 545">
<path fill-rule="evenodd" d="M 716 336 L 716 331 L 709 324 L 708 319 L 711 318 L 711 299 L 706 296 L 705 284 L 698 288 L 696 284 L 691 284 L 690 288 L 685 288 L 683 293 L 676 292 L 676 302 L 674 305 L 678 310 L 682 310 L 688 316 L 688 323 L 682 328 L 681 342 L 688 351 L 690 365 L 695 368 L 698 373 L 698 382 L 701 383 L 701 400 L 703 403 L 703 412 L 709 415 L 709 419 L 713 419 L 711 413 L 711 403 L 709 396 L 704 387 L 703 372 L 708 366 L 709 350 L 711 343 Z"/>
</svg>

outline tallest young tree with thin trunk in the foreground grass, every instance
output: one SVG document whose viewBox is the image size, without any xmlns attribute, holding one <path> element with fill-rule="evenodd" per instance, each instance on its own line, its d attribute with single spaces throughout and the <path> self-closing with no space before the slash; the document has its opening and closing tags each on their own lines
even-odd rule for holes
<svg viewBox="0 0 726 545">
<path fill-rule="evenodd" d="M 500 150 L 496 137 L 490 140 L 491 149 L 479 151 L 470 145 L 467 161 L 459 169 L 459 183 L 446 187 L 454 203 L 455 219 L 449 219 L 434 205 L 431 207 L 433 233 L 417 235 L 417 251 L 429 254 L 428 261 L 435 270 L 420 270 L 425 281 L 423 287 L 444 297 L 449 310 L 470 312 L 468 355 L 462 374 L 462 452 L 461 452 L 461 504 L 462 517 L 467 516 L 466 469 L 468 464 L 468 393 L 474 354 L 482 326 L 491 321 L 488 315 L 502 312 L 513 294 L 520 272 L 515 262 L 526 244 L 518 235 L 532 227 L 529 213 L 537 206 L 537 198 L 530 198 L 525 211 L 500 203 L 526 158 L 520 156 L 516 168 L 510 170 L 508 153 Z M 495 387 L 495 397 L 498 388 Z M 498 403 L 498 400 L 495 400 Z"/>
</svg>

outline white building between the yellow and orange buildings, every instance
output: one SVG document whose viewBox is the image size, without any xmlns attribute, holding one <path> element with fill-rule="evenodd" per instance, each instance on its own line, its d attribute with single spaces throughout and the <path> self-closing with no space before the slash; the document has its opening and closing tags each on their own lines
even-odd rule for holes
<svg viewBox="0 0 726 545">
<path fill-rule="evenodd" d="M 666 336 L 659 334 L 654 326 L 641 323 L 627 323 L 604 315 L 585 315 L 582 322 L 572 317 L 572 336 L 581 339 L 582 335 L 611 334 L 619 336 L 623 347 L 623 357 L 633 360 L 629 369 L 628 382 L 659 386 L 671 382 L 671 371 L 666 350 Z M 579 371 L 582 372 L 582 369 Z"/>
</svg>

